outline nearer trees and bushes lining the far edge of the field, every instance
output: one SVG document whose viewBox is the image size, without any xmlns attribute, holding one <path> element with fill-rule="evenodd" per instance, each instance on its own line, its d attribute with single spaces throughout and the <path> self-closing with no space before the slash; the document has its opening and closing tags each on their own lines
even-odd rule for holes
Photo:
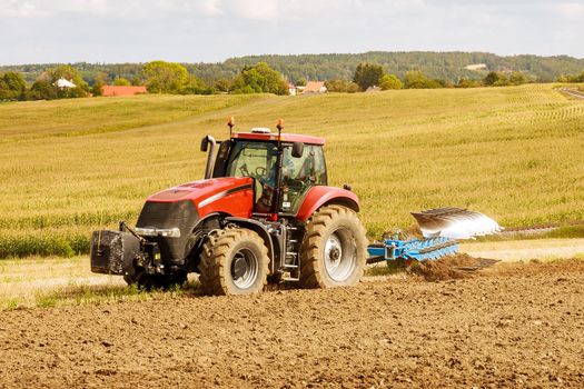
<svg viewBox="0 0 584 389">
<path fill-rule="evenodd" d="M 211 94 L 211 93 L 288 93 L 288 79 L 273 69 L 267 62 L 245 64 L 235 77 L 225 77 L 212 82 L 192 74 L 181 63 L 152 61 L 141 66 L 131 79 L 118 74 L 111 79 L 98 73 L 91 84 L 82 72 L 73 66 L 61 64 L 40 73 L 29 86 L 20 72 L 0 73 L 0 101 L 6 100 L 52 100 L 87 96 L 101 96 L 106 83 L 117 86 L 146 86 L 150 93 Z M 58 80 L 71 81 L 75 87 L 58 84 Z M 410 70 L 399 77 L 388 73 L 383 64 L 358 63 L 350 79 L 333 78 L 325 82 L 330 92 L 358 92 L 370 87 L 388 89 L 434 89 L 434 88 L 474 88 L 518 86 L 536 80 L 521 71 L 489 71 L 481 79 L 461 78 L 457 83 L 448 79 L 432 78 L 419 70 Z M 584 71 L 575 76 L 560 76 L 561 82 L 584 82 Z M 298 79 L 297 84 L 305 84 L 306 79 Z"/>
</svg>

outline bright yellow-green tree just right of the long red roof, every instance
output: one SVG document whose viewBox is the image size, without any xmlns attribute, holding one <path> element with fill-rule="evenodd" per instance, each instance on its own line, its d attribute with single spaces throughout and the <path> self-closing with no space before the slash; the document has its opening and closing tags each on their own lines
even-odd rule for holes
<svg viewBox="0 0 584 389">
<path fill-rule="evenodd" d="M 181 93 L 188 82 L 187 69 L 175 62 L 148 62 L 143 66 L 142 76 L 151 93 Z"/>
</svg>

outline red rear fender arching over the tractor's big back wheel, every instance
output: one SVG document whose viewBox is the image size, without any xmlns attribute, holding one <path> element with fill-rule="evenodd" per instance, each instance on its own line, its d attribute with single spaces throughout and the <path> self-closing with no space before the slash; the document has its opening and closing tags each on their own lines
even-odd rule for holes
<svg viewBox="0 0 584 389">
<path fill-rule="evenodd" d="M 306 221 L 318 208 L 331 203 L 345 206 L 355 212 L 359 211 L 359 199 L 354 192 L 335 187 L 317 186 L 306 193 L 303 205 L 296 213 L 296 219 Z"/>
</svg>

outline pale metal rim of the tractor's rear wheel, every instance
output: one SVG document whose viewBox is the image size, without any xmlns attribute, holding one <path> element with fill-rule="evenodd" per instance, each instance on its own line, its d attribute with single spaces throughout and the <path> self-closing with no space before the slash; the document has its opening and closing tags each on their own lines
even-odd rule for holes
<svg viewBox="0 0 584 389">
<path fill-rule="evenodd" d="M 345 230 L 336 230 L 325 243 L 325 269 L 334 281 L 347 280 L 355 269 L 357 250 L 353 235 Z"/>
</svg>

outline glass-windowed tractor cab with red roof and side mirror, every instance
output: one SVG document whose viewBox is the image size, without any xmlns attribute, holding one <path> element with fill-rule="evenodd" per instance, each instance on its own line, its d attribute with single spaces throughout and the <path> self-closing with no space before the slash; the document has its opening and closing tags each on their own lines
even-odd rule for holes
<svg viewBox="0 0 584 389">
<path fill-rule="evenodd" d="M 327 184 L 324 142 L 323 138 L 271 133 L 266 128 L 232 132 L 219 144 L 212 173 L 209 166 L 207 171 L 212 178 L 253 178 L 254 213 L 295 216 L 310 188 Z"/>
</svg>

